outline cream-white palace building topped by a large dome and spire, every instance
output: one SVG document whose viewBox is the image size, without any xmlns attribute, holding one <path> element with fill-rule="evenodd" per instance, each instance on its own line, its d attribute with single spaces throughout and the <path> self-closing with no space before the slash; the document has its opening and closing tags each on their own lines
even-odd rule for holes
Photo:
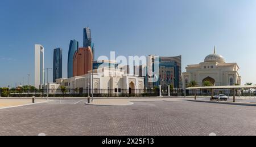
<svg viewBox="0 0 256 147">
<path fill-rule="evenodd" d="M 186 88 L 191 81 L 196 81 L 197 86 L 204 86 L 204 81 L 210 81 L 214 86 L 241 85 L 239 70 L 237 63 L 226 63 L 214 47 L 214 53 L 205 57 L 204 62 L 186 67 L 183 83 Z"/>
</svg>

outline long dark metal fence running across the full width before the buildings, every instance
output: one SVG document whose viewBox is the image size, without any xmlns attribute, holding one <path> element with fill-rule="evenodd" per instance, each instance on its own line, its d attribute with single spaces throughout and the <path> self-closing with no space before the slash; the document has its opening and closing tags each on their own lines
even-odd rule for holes
<svg viewBox="0 0 256 147">
<path fill-rule="evenodd" d="M 186 92 L 186 93 L 184 93 Z M 16 90 L 16 89 L 0 89 L 1 97 L 157 97 L 159 89 L 33 89 L 33 90 Z M 211 90 L 183 90 L 171 89 L 170 96 L 212 96 Z M 249 90 L 236 90 L 236 96 L 256 96 L 255 92 Z M 221 89 L 214 90 L 213 95 L 225 94 L 233 96 L 233 90 Z M 162 96 L 168 96 L 168 90 L 162 89 Z"/>
</svg>

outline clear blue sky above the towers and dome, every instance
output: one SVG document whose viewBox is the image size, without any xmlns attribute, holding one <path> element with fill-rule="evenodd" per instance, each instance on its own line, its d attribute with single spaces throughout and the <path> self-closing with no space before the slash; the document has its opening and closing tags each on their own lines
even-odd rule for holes
<svg viewBox="0 0 256 147">
<path fill-rule="evenodd" d="M 217 53 L 237 62 L 242 82 L 256 84 L 256 1 L 254 0 L 2 0 L 0 5 L 0 87 L 15 86 L 31 74 L 34 44 L 63 48 L 67 76 L 69 41 L 82 45 L 82 28 L 92 29 L 96 57 L 109 55 L 183 56 L 187 64 Z M 49 81 L 52 72 L 49 72 Z"/>
</svg>

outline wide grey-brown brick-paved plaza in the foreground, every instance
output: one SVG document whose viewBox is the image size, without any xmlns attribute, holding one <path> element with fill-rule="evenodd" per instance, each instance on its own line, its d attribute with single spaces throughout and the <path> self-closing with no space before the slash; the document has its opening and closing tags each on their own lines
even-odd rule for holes
<svg viewBox="0 0 256 147">
<path fill-rule="evenodd" d="M 256 135 L 256 107 L 191 101 L 126 106 L 53 100 L 0 110 L 0 135 Z"/>
</svg>

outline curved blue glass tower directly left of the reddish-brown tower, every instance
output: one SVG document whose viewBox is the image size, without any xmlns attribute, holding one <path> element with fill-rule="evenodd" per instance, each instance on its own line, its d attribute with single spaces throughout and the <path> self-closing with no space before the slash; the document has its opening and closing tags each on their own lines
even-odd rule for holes
<svg viewBox="0 0 256 147">
<path fill-rule="evenodd" d="M 73 59 L 76 51 L 79 49 L 79 42 L 71 40 L 68 50 L 68 78 L 73 77 Z"/>
</svg>

